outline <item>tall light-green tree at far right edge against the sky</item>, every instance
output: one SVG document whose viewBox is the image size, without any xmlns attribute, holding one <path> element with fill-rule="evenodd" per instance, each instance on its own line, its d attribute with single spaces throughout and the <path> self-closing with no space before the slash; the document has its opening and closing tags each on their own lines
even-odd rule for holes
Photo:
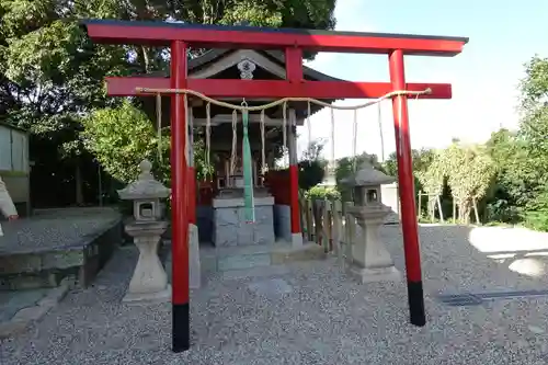
<svg viewBox="0 0 548 365">
<path fill-rule="evenodd" d="M 548 58 L 538 56 L 526 65 L 521 82 L 522 121 L 517 134 L 493 136 L 499 161 L 498 195 L 521 212 L 524 224 L 548 229 Z"/>
</svg>

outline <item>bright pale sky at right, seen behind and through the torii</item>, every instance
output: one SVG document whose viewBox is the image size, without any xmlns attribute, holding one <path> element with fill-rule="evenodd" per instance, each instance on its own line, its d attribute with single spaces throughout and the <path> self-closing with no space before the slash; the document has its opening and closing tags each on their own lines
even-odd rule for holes
<svg viewBox="0 0 548 365">
<path fill-rule="evenodd" d="M 404 33 L 469 37 L 464 52 L 453 58 L 406 57 L 408 82 L 448 82 L 452 100 L 409 102 L 412 148 L 443 148 L 452 138 L 481 142 L 501 126 L 518 124 L 517 87 L 524 64 L 535 54 L 548 57 L 546 0 L 338 0 L 336 31 Z M 389 81 L 387 56 L 321 53 L 306 64 L 349 81 Z M 338 104 L 355 105 L 363 100 Z M 395 151 L 391 104 L 358 111 L 357 153 L 381 157 Z M 335 158 L 352 156 L 353 113 L 335 111 Z M 311 138 L 327 141 L 331 155 L 331 115 L 323 110 L 311 117 Z M 308 145 L 308 128 L 298 128 L 299 150 Z"/>
</svg>

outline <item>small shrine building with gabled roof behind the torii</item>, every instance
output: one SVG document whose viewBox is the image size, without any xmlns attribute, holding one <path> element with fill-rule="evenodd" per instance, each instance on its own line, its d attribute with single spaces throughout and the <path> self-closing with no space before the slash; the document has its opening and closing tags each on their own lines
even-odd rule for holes
<svg viewBox="0 0 548 365">
<path fill-rule="evenodd" d="M 305 80 L 341 81 L 306 66 Z M 213 49 L 189 60 L 190 79 L 237 79 L 237 80 L 285 80 L 285 55 L 276 50 Z M 145 75 L 156 77 L 158 75 Z M 163 76 L 169 77 L 169 76 Z M 162 96 L 162 126 L 170 125 L 169 95 Z M 153 116 L 152 98 L 144 98 L 149 114 Z M 242 99 L 221 99 L 231 104 L 242 103 Z M 246 100 L 250 106 L 266 104 L 274 99 Z M 323 100 L 332 103 L 333 100 Z M 264 121 L 260 112 L 249 114 L 249 140 L 252 151 L 254 185 L 254 225 L 244 225 L 242 179 L 242 121 L 238 113 L 236 128 L 236 167 L 231 169 L 233 144 L 232 111 L 189 96 L 190 140 L 204 138 L 209 128 L 209 160 L 213 173 L 203 181 L 191 176 L 190 220 L 198 227 L 201 242 L 213 242 L 219 247 L 273 243 L 275 240 L 302 244 L 300 210 L 298 199 L 297 133 L 307 114 L 313 114 L 322 106 L 307 102 L 290 102 L 285 112 L 285 136 L 283 106 L 265 111 Z M 310 110 L 309 110 L 310 107 Z M 209 115 L 209 127 L 208 127 Z M 264 138 L 264 144 L 263 144 Z M 288 166 L 275 169 L 275 160 L 287 148 Z M 264 167 L 263 167 L 264 159 Z M 191 171 L 194 156 L 189 158 Z"/>
</svg>

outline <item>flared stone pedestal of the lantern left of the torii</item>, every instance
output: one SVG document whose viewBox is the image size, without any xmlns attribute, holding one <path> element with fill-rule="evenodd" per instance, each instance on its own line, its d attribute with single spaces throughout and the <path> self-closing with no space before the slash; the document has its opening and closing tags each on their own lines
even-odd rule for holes
<svg viewBox="0 0 548 365">
<path fill-rule="evenodd" d="M 126 232 L 134 237 L 135 246 L 139 249 L 139 259 L 124 303 L 161 303 L 171 298 L 168 274 L 158 258 L 158 243 L 167 228 L 167 221 L 135 223 L 126 226 Z"/>
</svg>

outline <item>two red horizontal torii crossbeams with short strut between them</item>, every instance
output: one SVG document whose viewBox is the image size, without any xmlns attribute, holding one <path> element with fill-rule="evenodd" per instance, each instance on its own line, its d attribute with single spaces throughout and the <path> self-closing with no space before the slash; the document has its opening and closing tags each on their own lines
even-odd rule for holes
<svg viewBox="0 0 548 365">
<path fill-rule="evenodd" d="M 94 42 L 107 44 L 145 44 L 169 46 L 184 42 L 189 47 L 204 48 L 282 48 L 286 54 L 286 80 L 208 80 L 187 79 L 186 87 L 212 98 L 316 98 L 376 99 L 392 90 L 390 82 L 304 81 L 302 50 L 389 54 L 401 49 L 404 55 L 455 56 L 468 38 L 419 36 L 407 34 L 275 30 L 247 26 L 217 26 L 162 22 L 84 21 Z M 136 88 L 168 89 L 167 78 L 107 78 L 112 96 L 136 94 Z M 146 84 L 144 83 L 146 82 Z M 431 89 L 421 99 L 450 99 L 447 83 L 409 83 L 407 90 Z"/>
</svg>

